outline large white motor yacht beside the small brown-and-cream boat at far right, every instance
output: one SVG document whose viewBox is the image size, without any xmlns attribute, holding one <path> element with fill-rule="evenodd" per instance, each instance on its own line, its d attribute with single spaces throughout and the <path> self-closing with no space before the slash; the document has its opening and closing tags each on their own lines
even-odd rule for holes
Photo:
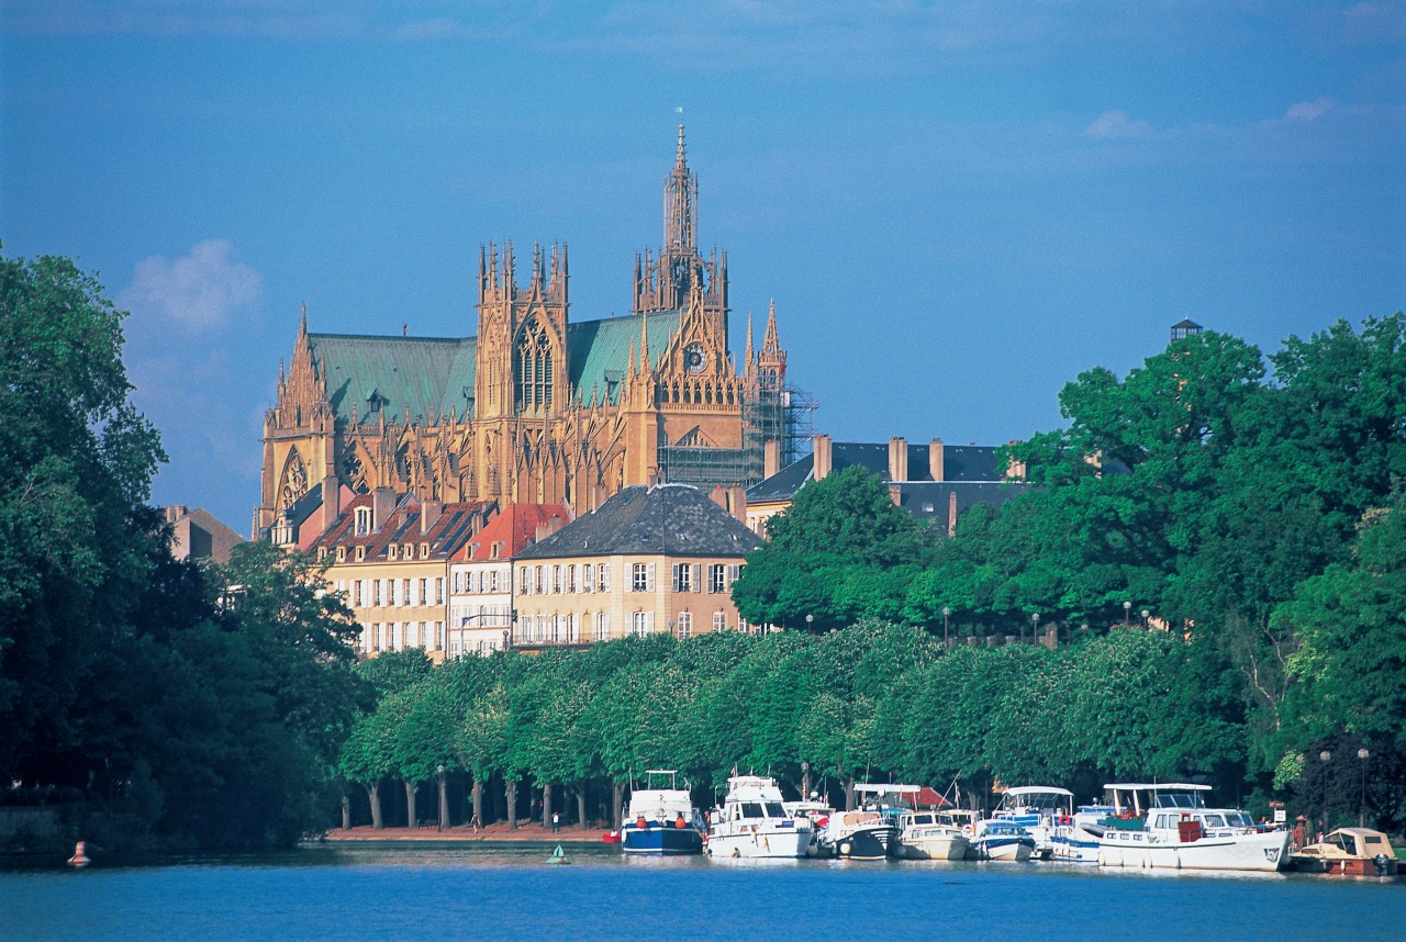
<svg viewBox="0 0 1406 942">
<path fill-rule="evenodd" d="M 1240 808 L 1211 808 L 1208 785 L 1107 785 L 1115 814 L 1098 838 L 1101 866 L 1278 870 L 1288 831 L 1261 831 Z"/>
</svg>

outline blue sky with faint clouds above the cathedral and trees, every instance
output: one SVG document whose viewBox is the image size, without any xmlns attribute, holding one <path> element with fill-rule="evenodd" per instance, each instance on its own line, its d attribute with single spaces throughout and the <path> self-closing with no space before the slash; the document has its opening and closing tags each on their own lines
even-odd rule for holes
<svg viewBox="0 0 1406 942">
<path fill-rule="evenodd" d="M 465 336 L 478 247 L 630 308 L 683 107 L 733 340 L 838 440 L 1059 425 L 1191 318 L 1406 307 L 1406 4 L 4 0 L 0 239 L 128 311 L 163 503 L 247 531 L 314 330 Z"/>
</svg>

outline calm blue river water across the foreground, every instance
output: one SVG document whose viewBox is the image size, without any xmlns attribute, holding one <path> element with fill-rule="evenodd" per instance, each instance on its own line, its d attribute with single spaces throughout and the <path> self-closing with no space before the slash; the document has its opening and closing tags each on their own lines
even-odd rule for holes
<svg viewBox="0 0 1406 942">
<path fill-rule="evenodd" d="M 0 939 L 1400 939 L 1406 879 L 314 846 L 0 870 Z"/>
</svg>

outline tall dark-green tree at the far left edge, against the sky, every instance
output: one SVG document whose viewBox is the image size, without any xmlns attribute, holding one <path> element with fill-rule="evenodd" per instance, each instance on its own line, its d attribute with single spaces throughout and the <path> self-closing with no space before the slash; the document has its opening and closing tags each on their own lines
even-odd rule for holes
<svg viewBox="0 0 1406 942">
<path fill-rule="evenodd" d="M 0 780 L 55 783 L 72 711 L 149 574 L 165 460 L 128 401 L 127 315 L 69 260 L 0 259 Z"/>
</svg>

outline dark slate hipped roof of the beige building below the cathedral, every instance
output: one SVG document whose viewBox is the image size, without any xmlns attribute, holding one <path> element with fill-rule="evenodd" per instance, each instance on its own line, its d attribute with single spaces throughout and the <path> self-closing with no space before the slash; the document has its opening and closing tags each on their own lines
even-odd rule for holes
<svg viewBox="0 0 1406 942">
<path fill-rule="evenodd" d="M 741 557 L 761 537 L 686 484 L 631 486 L 517 554 L 519 560 L 576 555 Z"/>
</svg>

